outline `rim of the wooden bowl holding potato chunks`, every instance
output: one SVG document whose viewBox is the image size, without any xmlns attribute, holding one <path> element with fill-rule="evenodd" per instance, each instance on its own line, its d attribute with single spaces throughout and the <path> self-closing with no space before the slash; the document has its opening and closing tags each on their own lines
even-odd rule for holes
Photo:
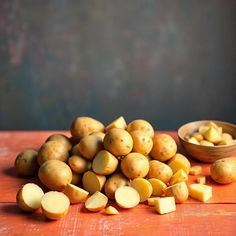
<svg viewBox="0 0 236 236">
<path fill-rule="evenodd" d="M 224 124 L 224 125 L 228 125 L 228 126 L 231 126 L 231 127 L 233 127 L 234 129 L 236 129 L 236 125 L 235 124 L 233 124 L 233 123 L 230 123 L 230 122 L 227 122 L 227 121 L 221 121 L 221 120 L 196 120 L 196 121 L 190 121 L 190 122 L 188 122 L 188 123 L 185 123 L 185 124 L 183 124 L 183 125 L 181 125 L 179 128 L 178 128 L 178 131 L 177 131 L 177 134 L 178 134 L 178 137 L 179 137 L 179 139 L 182 141 L 182 142 L 184 142 L 184 143 L 187 143 L 187 144 L 191 144 L 191 145 L 194 145 L 194 146 L 196 146 L 196 147 L 203 147 L 203 148 L 209 148 L 209 149 L 219 149 L 219 148 L 228 148 L 228 147 L 231 147 L 231 146 L 235 146 L 236 145 L 236 143 L 231 143 L 231 144 L 225 144 L 225 145 L 219 145 L 219 146 L 204 146 L 204 145 L 200 145 L 200 144 L 194 144 L 194 143 L 190 143 L 190 142 L 188 142 L 188 141 L 186 141 L 185 139 L 184 139 L 184 137 L 182 137 L 181 135 L 180 135 L 180 131 L 184 128 L 184 127 L 186 127 L 186 126 L 188 126 L 188 125 L 191 125 L 191 124 L 194 124 L 194 123 L 207 123 L 207 122 L 215 122 L 215 123 L 221 123 L 221 124 Z"/>
</svg>

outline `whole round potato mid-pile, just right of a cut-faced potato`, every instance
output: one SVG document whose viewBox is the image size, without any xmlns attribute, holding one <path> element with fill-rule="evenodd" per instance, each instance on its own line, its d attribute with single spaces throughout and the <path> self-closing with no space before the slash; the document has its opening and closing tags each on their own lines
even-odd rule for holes
<svg viewBox="0 0 236 236">
<path fill-rule="evenodd" d="M 149 161 L 140 153 L 129 153 L 121 160 L 121 171 L 129 179 L 145 177 L 149 171 Z"/>
</svg>

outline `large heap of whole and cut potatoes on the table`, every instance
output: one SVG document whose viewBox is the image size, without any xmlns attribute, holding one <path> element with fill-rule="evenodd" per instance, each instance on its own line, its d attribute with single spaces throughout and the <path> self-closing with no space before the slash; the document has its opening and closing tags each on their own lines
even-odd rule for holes
<svg viewBox="0 0 236 236">
<path fill-rule="evenodd" d="M 84 202 L 89 211 L 105 208 L 106 214 L 119 214 L 108 206 L 110 199 L 127 209 L 147 201 L 164 214 L 191 195 L 186 185 L 189 160 L 177 153 L 170 135 L 154 134 L 149 122 L 127 125 L 119 117 L 105 127 L 93 118 L 77 117 L 70 131 L 70 138 L 53 134 L 38 152 L 27 149 L 17 156 L 17 173 L 38 176 L 48 189 L 44 193 L 33 183 L 22 186 L 17 203 L 24 211 L 41 208 L 47 218 L 57 220 L 70 204 Z"/>
</svg>

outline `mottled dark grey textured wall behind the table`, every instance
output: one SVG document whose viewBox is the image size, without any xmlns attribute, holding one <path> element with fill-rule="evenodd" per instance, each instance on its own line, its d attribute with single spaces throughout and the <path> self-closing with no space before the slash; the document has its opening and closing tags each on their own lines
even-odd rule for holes
<svg viewBox="0 0 236 236">
<path fill-rule="evenodd" d="M 236 123 L 235 91 L 234 0 L 0 1 L 0 129 Z"/>
</svg>

